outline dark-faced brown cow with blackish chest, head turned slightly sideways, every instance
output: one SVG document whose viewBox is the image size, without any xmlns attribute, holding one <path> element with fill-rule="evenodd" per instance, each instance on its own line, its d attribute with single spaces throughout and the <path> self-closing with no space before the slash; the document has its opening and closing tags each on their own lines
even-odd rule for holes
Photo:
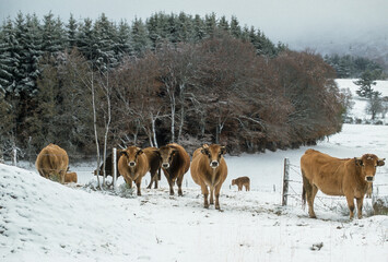
<svg viewBox="0 0 388 262">
<path fill-rule="evenodd" d="M 158 148 L 162 159 L 162 169 L 169 184 L 169 194 L 174 195 L 175 181 L 178 184 L 178 195 L 184 195 L 181 182 L 184 175 L 189 170 L 190 156 L 184 147 L 176 143 L 167 144 Z"/>
</svg>

